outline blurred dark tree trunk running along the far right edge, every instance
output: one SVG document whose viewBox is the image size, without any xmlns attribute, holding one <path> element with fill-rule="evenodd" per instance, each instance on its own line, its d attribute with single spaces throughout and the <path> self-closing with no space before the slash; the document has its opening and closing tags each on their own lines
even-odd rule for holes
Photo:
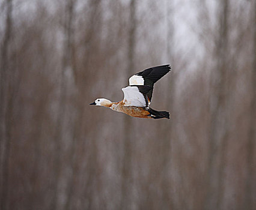
<svg viewBox="0 0 256 210">
<path fill-rule="evenodd" d="M 254 17 L 254 55 L 253 64 L 252 64 L 252 77 L 251 77 L 251 88 L 252 88 L 252 97 L 251 97 L 251 109 L 250 109 L 250 128 L 248 134 L 248 142 L 247 142 L 247 174 L 246 174 L 246 191 L 245 191 L 245 209 L 255 209 L 255 128 L 256 128 L 256 1 L 254 1 L 254 10 L 252 10 L 252 14 Z"/>
</svg>

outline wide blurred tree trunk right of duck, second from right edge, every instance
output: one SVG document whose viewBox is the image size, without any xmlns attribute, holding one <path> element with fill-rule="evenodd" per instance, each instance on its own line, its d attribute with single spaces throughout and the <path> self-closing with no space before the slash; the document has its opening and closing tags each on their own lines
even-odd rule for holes
<svg viewBox="0 0 256 210">
<path fill-rule="evenodd" d="M 216 42 L 217 59 L 216 68 L 212 76 L 212 97 L 211 97 L 211 125 L 209 136 L 209 159 L 207 163 L 207 193 L 204 207 L 206 209 L 219 209 L 221 170 L 224 170 L 221 160 L 221 153 L 225 152 L 227 145 L 227 127 L 225 125 L 225 101 L 227 93 L 225 91 L 226 59 L 227 59 L 227 40 L 228 40 L 228 0 L 219 1 L 219 27 L 220 33 Z M 222 149 L 222 152 L 219 151 Z"/>
</svg>

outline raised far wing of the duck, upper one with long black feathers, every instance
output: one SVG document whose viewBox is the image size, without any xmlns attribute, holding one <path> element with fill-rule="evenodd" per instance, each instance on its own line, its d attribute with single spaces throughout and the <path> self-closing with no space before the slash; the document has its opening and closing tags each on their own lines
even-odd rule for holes
<svg viewBox="0 0 256 210">
<path fill-rule="evenodd" d="M 170 65 L 160 65 L 158 67 L 148 68 L 144 71 L 141 71 L 129 79 L 129 85 L 148 85 L 151 87 L 151 90 L 147 93 L 148 99 L 151 101 L 154 83 L 161 79 L 165 74 L 171 71 Z"/>
</svg>

